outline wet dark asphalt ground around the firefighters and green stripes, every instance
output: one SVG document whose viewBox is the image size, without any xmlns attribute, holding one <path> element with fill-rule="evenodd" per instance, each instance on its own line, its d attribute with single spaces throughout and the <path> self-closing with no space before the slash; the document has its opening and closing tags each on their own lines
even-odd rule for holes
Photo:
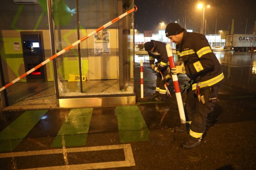
<svg viewBox="0 0 256 170">
<path fill-rule="evenodd" d="M 117 107 L 98 107 L 93 108 L 84 145 L 68 147 L 62 142 L 62 147 L 51 147 L 67 121 L 70 109 L 48 110 L 45 119 L 35 123 L 27 135 L 19 139 L 15 149 L 0 152 L 0 169 L 255 170 L 256 53 L 252 58 L 246 52 L 215 53 L 222 65 L 225 82 L 220 88 L 215 110 L 208 115 L 207 129 L 199 146 L 192 149 L 180 147 L 188 134 L 173 131 L 181 120 L 172 81 L 168 87 L 171 97 L 164 102 L 154 102 L 149 96 L 155 90 L 156 74 L 149 65 L 148 56 L 136 55 L 136 107 L 146 124 L 146 127 L 141 125 L 141 129 L 149 131 L 145 135 L 146 131 L 141 130 L 136 139 L 148 138 L 131 142 L 127 142 L 129 138 L 120 140 Z M 140 60 L 143 60 L 144 100 L 140 99 Z M 188 78 L 179 75 L 178 79 L 183 91 Z M 184 102 L 186 94 L 181 96 Z M 9 127 L 23 112 L 2 111 L 0 131 Z M 128 124 L 134 122 L 130 118 Z M 9 141 L 9 145 L 14 143 Z"/>
</svg>

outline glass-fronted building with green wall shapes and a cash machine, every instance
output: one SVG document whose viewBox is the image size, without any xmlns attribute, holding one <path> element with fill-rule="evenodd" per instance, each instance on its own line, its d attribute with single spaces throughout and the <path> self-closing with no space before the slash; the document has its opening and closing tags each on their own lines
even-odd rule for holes
<svg viewBox="0 0 256 170">
<path fill-rule="evenodd" d="M 133 8 L 133 0 L 3 1 L 0 88 L 30 72 L 1 90 L 1 107 L 134 104 L 134 13 L 95 31 Z"/>
</svg>

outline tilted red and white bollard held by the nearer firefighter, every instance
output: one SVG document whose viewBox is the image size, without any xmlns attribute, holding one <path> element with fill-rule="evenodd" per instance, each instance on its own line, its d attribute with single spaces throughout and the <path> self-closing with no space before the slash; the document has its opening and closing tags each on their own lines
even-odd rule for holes
<svg viewBox="0 0 256 170">
<path fill-rule="evenodd" d="M 171 50 L 170 44 L 166 44 L 166 51 L 167 51 L 170 67 L 174 68 L 175 64 L 174 64 L 173 52 Z M 171 77 L 173 78 L 173 85 L 174 85 L 176 99 L 177 99 L 177 103 L 178 103 L 179 114 L 181 117 L 181 123 L 184 124 L 184 123 L 186 123 L 186 117 L 185 117 L 185 112 L 184 112 L 182 98 L 181 98 L 181 90 L 179 88 L 178 76 L 172 74 Z"/>
</svg>

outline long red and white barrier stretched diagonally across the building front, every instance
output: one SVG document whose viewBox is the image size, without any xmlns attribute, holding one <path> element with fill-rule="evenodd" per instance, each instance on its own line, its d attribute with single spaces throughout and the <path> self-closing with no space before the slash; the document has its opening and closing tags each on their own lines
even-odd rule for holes
<svg viewBox="0 0 256 170">
<path fill-rule="evenodd" d="M 78 41 L 76 41 L 75 43 L 69 45 L 68 47 L 66 47 L 65 49 L 61 50 L 60 52 L 54 54 L 53 56 L 51 56 L 50 58 L 48 58 L 47 60 L 45 60 L 44 62 L 38 64 L 36 67 L 32 68 L 31 70 L 27 71 L 26 73 L 24 73 L 23 75 L 21 75 L 20 77 L 16 78 L 15 80 L 9 82 L 8 84 L 6 84 L 4 87 L 0 88 L 0 92 L 6 88 L 8 88 L 9 86 L 11 86 L 12 84 L 14 84 L 15 82 L 19 81 L 21 78 L 25 77 L 26 75 L 29 75 L 30 73 L 32 73 L 33 71 L 37 70 L 38 68 L 40 68 L 41 66 L 45 65 L 46 63 L 50 62 L 51 60 L 53 60 L 54 58 L 56 58 L 57 56 L 60 56 L 61 54 L 64 54 L 65 52 L 67 52 L 68 50 L 70 50 L 72 47 L 75 47 L 77 44 L 81 43 L 82 41 L 84 41 L 85 39 L 87 39 L 88 37 L 96 34 L 97 32 L 103 30 L 104 28 L 108 27 L 109 25 L 113 24 L 114 22 L 118 21 L 119 19 L 121 19 L 122 17 L 128 15 L 129 13 L 132 13 L 133 11 L 137 11 L 137 6 L 134 6 L 134 8 L 130 9 L 129 11 L 127 11 L 126 13 L 123 13 L 122 15 L 120 15 L 119 17 L 113 19 L 112 21 L 107 22 L 107 24 L 101 26 L 100 28 L 98 28 L 97 30 L 94 30 L 93 32 L 91 32 L 90 34 L 86 35 L 85 37 L 79 39 Z"/>
</svg>

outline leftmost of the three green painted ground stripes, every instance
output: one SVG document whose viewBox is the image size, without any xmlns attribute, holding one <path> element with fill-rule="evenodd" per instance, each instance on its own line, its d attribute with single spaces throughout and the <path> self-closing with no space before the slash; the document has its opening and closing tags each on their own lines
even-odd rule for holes
<svg viewBox="0 0 256 170">
<path fill-rule="evenodd" d="M 0 132 L 0 151 L 13 151 L 48 110 L 25 111 Z"/>
</svg>

